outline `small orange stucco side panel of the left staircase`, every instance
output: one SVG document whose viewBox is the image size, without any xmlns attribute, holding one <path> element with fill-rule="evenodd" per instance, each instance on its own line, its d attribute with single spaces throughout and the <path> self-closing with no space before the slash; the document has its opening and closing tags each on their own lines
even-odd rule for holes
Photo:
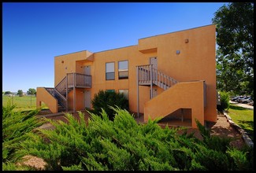
<svg viewBox="0 0 256 173">
<path fill-rule="evenodd" d="M 54 98 L 52 94 L 50 94 L 46 88 L 38 87 L 36 89 L 36 107 L 39 108 L 41 106 L 41 101 L 43 101 L 50 112 L 57 113 L 58 112 L 58 100 Z"/>
</svg>

